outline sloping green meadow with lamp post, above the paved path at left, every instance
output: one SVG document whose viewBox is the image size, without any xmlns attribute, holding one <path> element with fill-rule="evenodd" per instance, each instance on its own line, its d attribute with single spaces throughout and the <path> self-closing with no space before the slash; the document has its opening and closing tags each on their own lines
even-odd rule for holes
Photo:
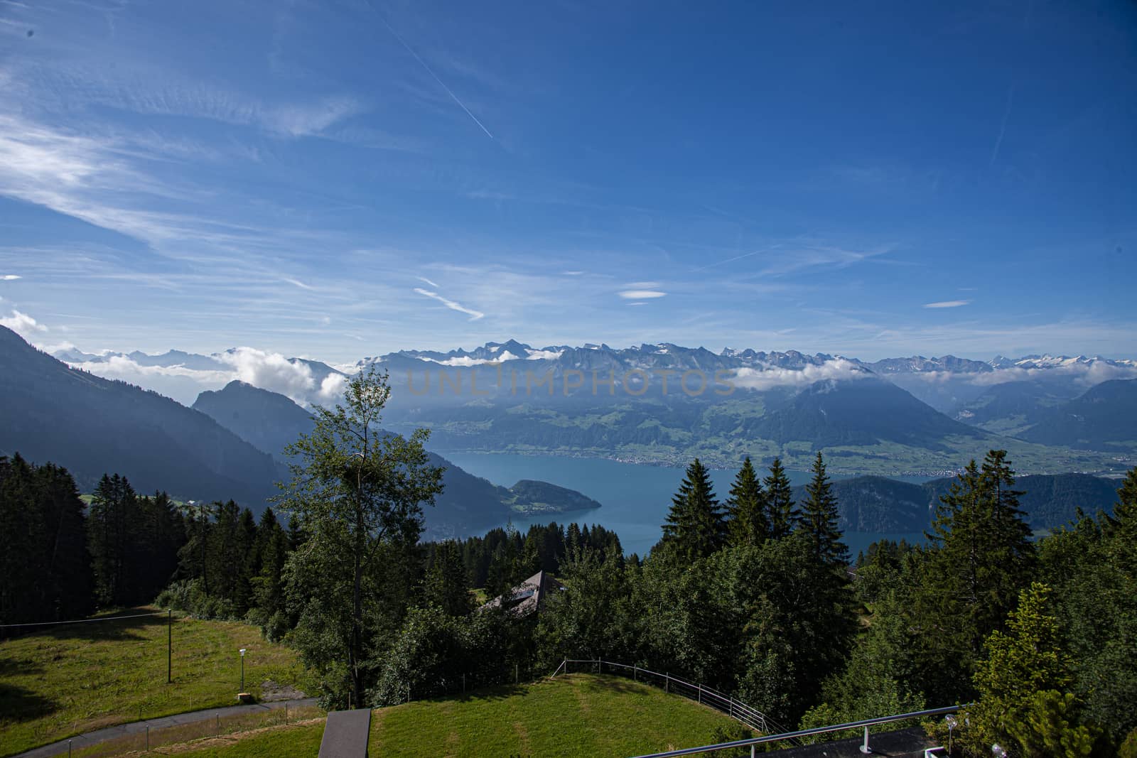
<svg viewBox="0 0 1137 758">
<path fill-rule="evenodd" d="M 304 688 L 296 653 L 265 642 L 256 626 L 175 615 L 173 641 L 173 684 L 164 616 L 69 624 L 0 642 L 0 756 L 114 724 L 235 705 L 240 648 L 248 649 L 252 694 L 260 697 L 265 680 Z"/>
</svg>

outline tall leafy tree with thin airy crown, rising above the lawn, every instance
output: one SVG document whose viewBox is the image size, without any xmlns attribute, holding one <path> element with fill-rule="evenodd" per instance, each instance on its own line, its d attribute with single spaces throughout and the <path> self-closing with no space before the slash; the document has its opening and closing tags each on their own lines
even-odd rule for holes
<svg viewBox="0 0 1137 758">
<path fill-rule="evenodd" d="M 401 624 L 417 580 L 409 553 L 423 503 L 442 491 L 442 469 L 423 449 L 428 431 L 405 439 L 380 427 L 390 395 L 387 374 L 372 365 L 350 380 L 343 403 L 317 407 L 312 433 L 285 448 L 292 478 L 280 502 L 307 534 L 288 568 L 297 645 L 331 680 L 338 703 L 364 702 L 380 640 Z"/>
</svg>

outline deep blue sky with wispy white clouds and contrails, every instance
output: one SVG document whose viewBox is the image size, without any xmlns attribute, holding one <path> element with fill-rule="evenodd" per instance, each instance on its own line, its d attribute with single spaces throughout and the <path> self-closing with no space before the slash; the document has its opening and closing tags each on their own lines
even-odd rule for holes
<svg viewBox="0 0 1137 758">
<path fill-rule="evenodd" d="M 1132 357 L 1135 168 L 1120 0 L 0 0 L 41 345 Z"/>
</svg>

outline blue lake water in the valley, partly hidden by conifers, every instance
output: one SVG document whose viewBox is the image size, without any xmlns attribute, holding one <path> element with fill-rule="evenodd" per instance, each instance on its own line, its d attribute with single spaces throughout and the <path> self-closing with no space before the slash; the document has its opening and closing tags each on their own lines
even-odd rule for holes
<svg viewBox="0 0 1137 758">
<path fill-rule="evenodd" d="M 493 484 L 513 486 L 520 480 L 540 480 L 582 492 L 603 506 L 591 510 L 556 515 L 514 517 L 513 525 L 522 533 L 531 524 L 548 524 L 554 520 L 559 524 L 571 522 L 600 524 L 620 535 L 625 552 L 640 556 L 647 555 L 652 545 L 659 541 L 663 534 L 663 520 L 671 507 L 671 495 L 679 489 L 684 473 L 684 468 L 680 467 L 625 464 L 605 458 L 442 450 L 437 452 L 474 476 L 487 478 Z M 711 481 L 720 500 L 725 499 L 736 473 L 722 469 L 711 472 Z M 764 473 L 760 470 L 760 474 Z M 795 485 L 810 481 L 808 472 L 788 470 L 786 474 Z M 924 480 L 906 477 L 904 481 Z M 845 544 L 855 558 L 860 550 L 882 539 L 922 542 L 923 534 L 847 532 Z"/>
</svg>

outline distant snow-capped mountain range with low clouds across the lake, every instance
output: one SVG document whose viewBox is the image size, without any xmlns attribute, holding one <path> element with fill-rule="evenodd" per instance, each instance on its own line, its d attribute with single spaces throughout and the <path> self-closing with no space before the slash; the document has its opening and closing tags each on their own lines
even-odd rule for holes
<svg viewBox="0 0 1137 758">
<path fill-rule="evenodd" d="M 864 361 L 794 350 L 713 352 L 671 343 L 533 348 L 507 340 L 473 350 L 401 350 L 339 368 L 276 356 L 275 367 L 291 373 L 279 377 L 249 369 L 255 357 L 249 349 L 213 356 L 70 350 L 59 357 L 94 372 L 133 363 L 150 372 L 142 377 L 148 381 L 161 370 L 176 372 L 180 381 L 200 373 L 226 383 L 248 374 L 244 381 L 302 405 L 327 402 L 327 389 L 340 386 L 337 380 L 375 365 L 390 374 L 395 389 L 390 428 L 426 426 L 443 452 L 669 464 L 698 455 L 722 466 L 744 455 L 781 456 L 805 467 L 810 455 L 824 450 L 836 470 L 886 475 L 949 473 L 993 447 L 1007 449 L 1022 470 L 1038 473 L 1118 473 L 1137 455 L 1128 431 L 1137 420 L 1137 361 L 1128 359 Z M 1084 399 L 1103 382 L 1115 386 Z M 1111 423 L 1095 424 L 1087 435 L 1090 422 L 1079 427 L 1072 419 L 1090 407 Z"/>
</svg>

